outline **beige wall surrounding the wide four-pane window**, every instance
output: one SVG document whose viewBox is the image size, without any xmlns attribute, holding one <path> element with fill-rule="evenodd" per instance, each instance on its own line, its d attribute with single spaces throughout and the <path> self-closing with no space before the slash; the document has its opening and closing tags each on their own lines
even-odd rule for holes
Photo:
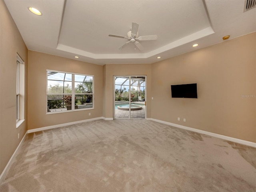
<svg viewBox="0 0 256 192">
<path fill-rule="evenodd" d="M 94 75 L 94 109 L 46 114 L 46 70 Z M 28 51 L 28 129 L 102 117 L 103 66 Z M 91 113 L 91 116 L 88 113 Z"/>
</svg>

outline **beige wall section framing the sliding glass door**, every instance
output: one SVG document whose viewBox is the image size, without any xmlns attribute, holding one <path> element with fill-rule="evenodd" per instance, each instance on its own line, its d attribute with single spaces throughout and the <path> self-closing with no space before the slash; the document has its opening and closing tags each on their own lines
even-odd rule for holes
<svg viewBox="0 0 256 192">
<path fill-rule="evenodd" d="M 151 97 L 151 64 L 107 64 L 104 66 L 105 95 L 103 104 L 104 117 L 113 118 L 113 76 L 115 75 L 146 75 L 146 96 Z M 147 118 L 151 116 L 151 101 L 147 99 Z"/>
</svg>

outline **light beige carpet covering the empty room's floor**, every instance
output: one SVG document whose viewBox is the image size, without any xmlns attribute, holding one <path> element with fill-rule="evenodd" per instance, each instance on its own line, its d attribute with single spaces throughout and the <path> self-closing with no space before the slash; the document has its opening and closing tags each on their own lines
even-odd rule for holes
<svg viewBox="0 0 256 192">
<path fill-rule="evenodd" d="M 150 120 L 26 135 L 1 192 L 255 192 L 256 148 Z"/>
</svg>

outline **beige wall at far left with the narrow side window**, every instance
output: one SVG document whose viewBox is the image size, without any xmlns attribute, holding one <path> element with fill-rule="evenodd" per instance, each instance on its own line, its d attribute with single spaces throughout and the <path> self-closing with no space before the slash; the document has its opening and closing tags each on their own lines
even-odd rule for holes
<svg viewBox="0 0 256 192">
<path fill-rule="evenodd" d="M 16 55 L 25 62 L 25 121 L 16 128 Z M 0 174 L 27 130 L 27 56 L 28 50 L 0 0 Z M 18 139 L 18 133 L 20 138 Z"/>
</svg>

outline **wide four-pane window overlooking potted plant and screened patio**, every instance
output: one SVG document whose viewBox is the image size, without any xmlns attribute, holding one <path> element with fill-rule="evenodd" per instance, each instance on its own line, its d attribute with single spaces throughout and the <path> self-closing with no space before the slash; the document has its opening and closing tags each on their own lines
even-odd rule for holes
<svg viewBox="0 0 256 192">
<path fill-rule="evenodd" d="M 47 112 L 93 108 L 94 76 L 47 70 Z"/>
</svg>

